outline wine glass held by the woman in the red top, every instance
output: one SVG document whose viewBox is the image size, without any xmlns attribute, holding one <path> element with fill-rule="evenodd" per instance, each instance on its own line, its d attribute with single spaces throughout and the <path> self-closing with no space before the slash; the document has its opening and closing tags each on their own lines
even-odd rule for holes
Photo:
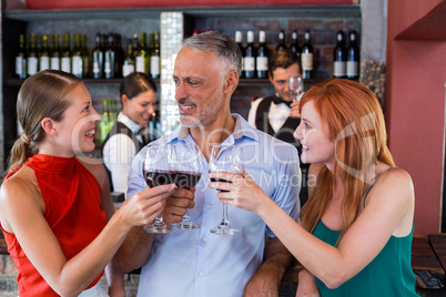
<svg viewBox="0 0 446 297">
<path fill-rule="evenodd" d="M 150 187 L 172 184 L 175 180 L 174 150 L 171 145 L 152 144 L 146 146 L 143 176 Z M 156 217 L 153 224 L 144 226 L 148 233 L 165 234 L 173 229 L 163 217 Z"/>
</svg>

